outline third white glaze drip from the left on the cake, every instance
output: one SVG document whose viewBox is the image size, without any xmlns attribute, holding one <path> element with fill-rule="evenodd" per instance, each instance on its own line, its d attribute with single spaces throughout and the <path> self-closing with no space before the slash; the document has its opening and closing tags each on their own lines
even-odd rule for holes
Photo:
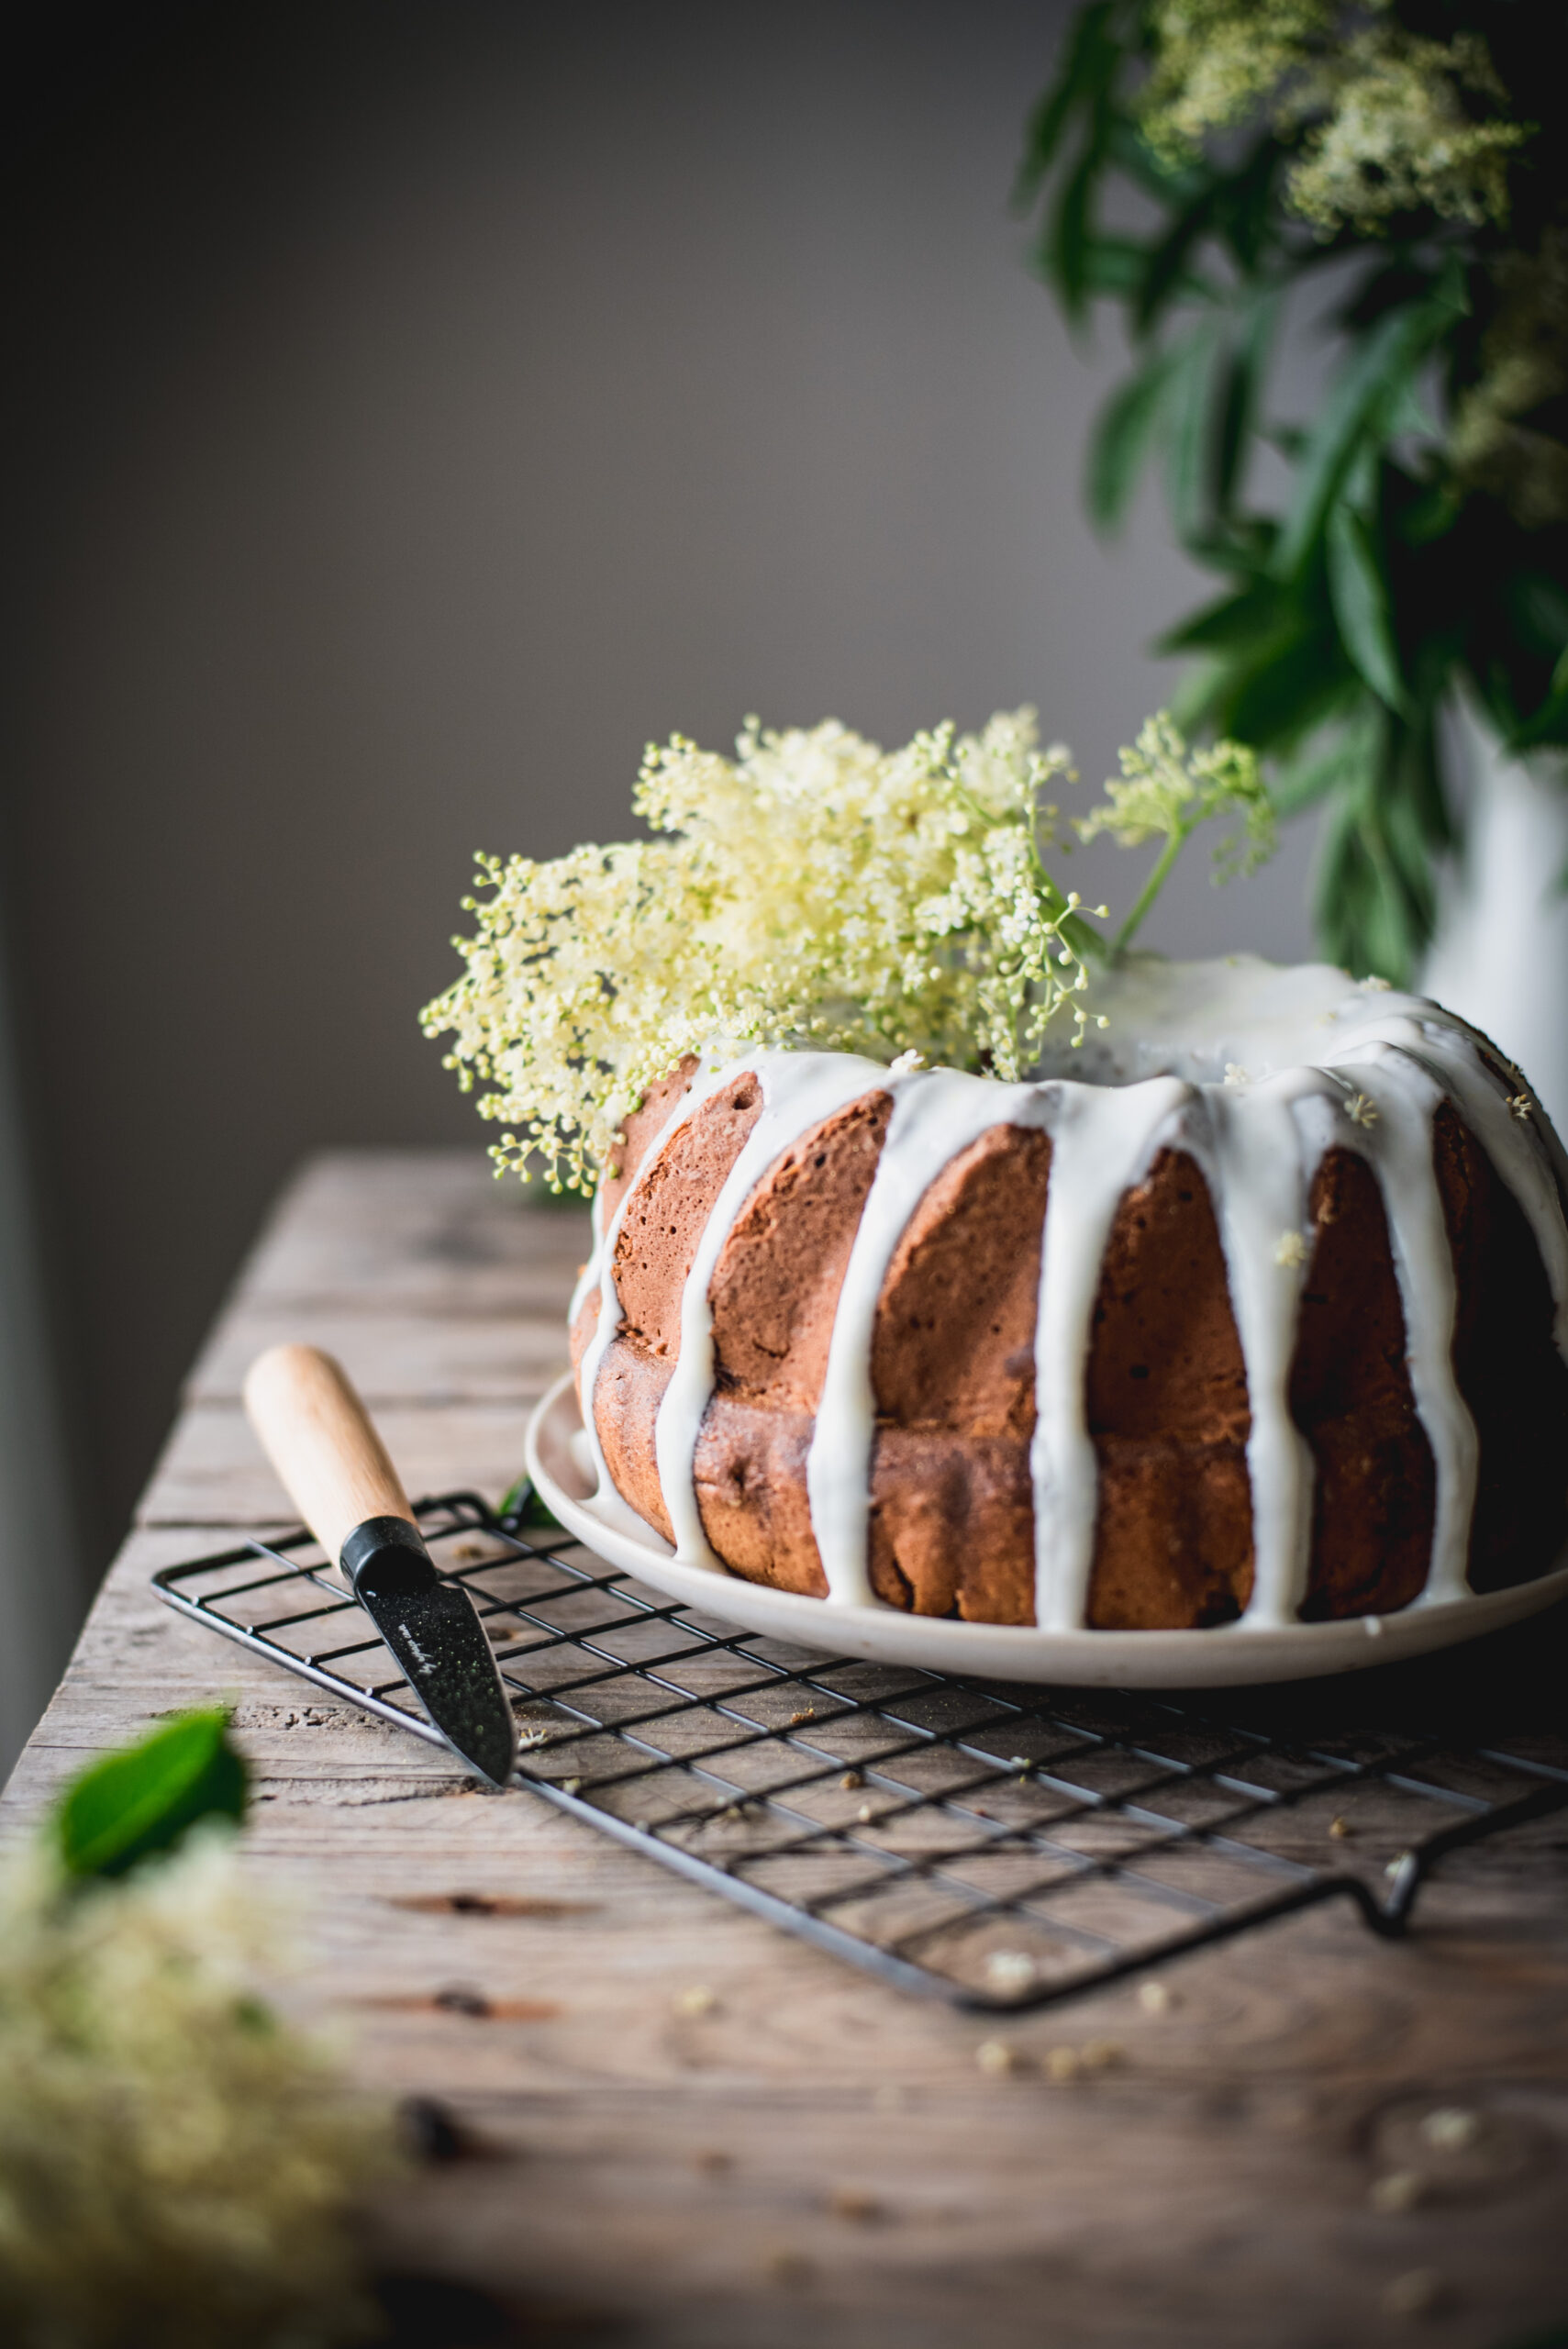
<svg viewBox="0 0 1568 2349">
<path fill-rule="evenodd" d="M 892 1092 L 887 1139 L 854 1233 L 833 1313 L 817 1426 L 805 1456 L 805 1492 L 817 1555 L 836 1607 L 871 1602 L 871 1325 L 904 1229 L 941 1170 L 993 1125 L 1042 1125 L 1038 1085 L 998 1085 L 958 1069 L 885 1081 Z"/>
</svg>

